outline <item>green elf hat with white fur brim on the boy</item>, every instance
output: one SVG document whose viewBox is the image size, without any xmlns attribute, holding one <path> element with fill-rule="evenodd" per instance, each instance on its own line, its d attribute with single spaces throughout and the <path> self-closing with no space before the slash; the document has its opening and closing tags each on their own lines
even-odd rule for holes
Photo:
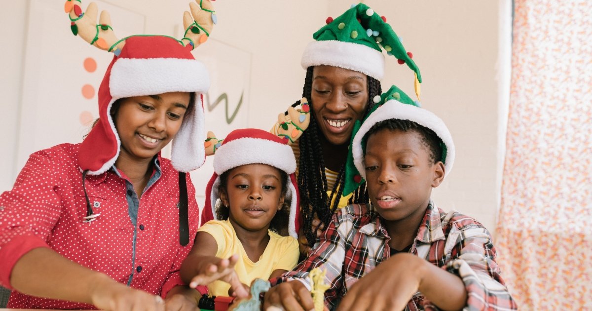
<svg viewBox="0 0 592 311">
<path fill-rule="evenodd" d="M 378 96 L 374 98 L 378 101 Z M 343 195 L 355 191 L 366 178 L 366 170 L 363 165 L 364 152 L 366 149 L 366 133 L 380 121 L 397 119 L 413 121 L 421 126 L 433 130 L 442 140 L 442 163 L 445 167 L 445 175 L 452 171 L 455 158 L 455 148 L 452 135 L 444 124 L 444 121 L 431 111 L 420 107 L 419 102 L 411 100 L 397 86 L 380 95 L 377 105 L 368 113 L 362 122 L 356 121 L 353 127 L 352 140 L 349 146 L 348 159 L 345 167 L 345 185 Z"/>
</svg>

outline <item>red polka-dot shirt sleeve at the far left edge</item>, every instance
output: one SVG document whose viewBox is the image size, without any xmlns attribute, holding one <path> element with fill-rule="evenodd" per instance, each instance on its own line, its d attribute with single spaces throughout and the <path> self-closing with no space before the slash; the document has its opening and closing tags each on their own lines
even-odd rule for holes
<svg viewBox="0 0 592 311">
<path fill-rule="evenodd" d="M 34 248 L 45 247 L 62 213 L 57 190 L 64 168 L 53 165 L 52 152 L 33 153 L 10 191 L 0 195 L 0 285 L 10 286 L 12 268 Z"/>
</svg>

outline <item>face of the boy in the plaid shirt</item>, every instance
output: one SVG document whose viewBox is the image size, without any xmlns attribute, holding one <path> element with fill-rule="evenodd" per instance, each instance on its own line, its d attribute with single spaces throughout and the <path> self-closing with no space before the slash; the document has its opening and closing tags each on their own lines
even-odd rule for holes
<svg viewBox="0 0 592 311">
<path fill-rule="evenodd" d="M 421 222 L 432 194 L 444 178 L 444 165 L 434 163 L 416 130 L 382 129 L 366 144 L 364 166 L 372 205 L 387 221 Z"/>
</svg>

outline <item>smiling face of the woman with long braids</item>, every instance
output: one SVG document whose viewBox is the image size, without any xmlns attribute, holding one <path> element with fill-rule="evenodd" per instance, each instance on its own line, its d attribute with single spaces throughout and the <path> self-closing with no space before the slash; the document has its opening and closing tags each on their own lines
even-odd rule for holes
<svg viewBox="0 0 592 311">
<path fill-rule="evenodd" d="M 315 66 L 311 105 L 326 140 L 333 145 L 349 143 L 353 123 L 368 107 L 368 78 L 348 69 Z"/>
</svg>

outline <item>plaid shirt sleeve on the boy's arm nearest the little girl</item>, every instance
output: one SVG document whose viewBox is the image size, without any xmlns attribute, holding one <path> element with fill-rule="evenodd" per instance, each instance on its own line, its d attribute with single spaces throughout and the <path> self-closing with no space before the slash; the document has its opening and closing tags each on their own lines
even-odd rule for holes
<svg viewBox="0 0 592 311">
<path fill-rule="evenodd" d="M 272 285 L 284 281 L 298 280 L 308 290 L 311 290 L 308 272 L 314 268 L 320 268 L 327 271 L 325 282 L 330 284 L 330 287 L 325 291 L 325 301 L 333 307 L 334 302 L 339 299 L 339 294 L 342 292 L 342 267 L 345 262 L 346 236 L 348 236 L 351 229 L 352 223 L 348 217 L 343 217 L 343 210 L 337 210 L 323 235 L 314 245 L 314 248 L 308 252 L 307 258 L 298 264 L 294 270 L 284 273 L 278 280 L 272 280 Z"/>
</svg>

